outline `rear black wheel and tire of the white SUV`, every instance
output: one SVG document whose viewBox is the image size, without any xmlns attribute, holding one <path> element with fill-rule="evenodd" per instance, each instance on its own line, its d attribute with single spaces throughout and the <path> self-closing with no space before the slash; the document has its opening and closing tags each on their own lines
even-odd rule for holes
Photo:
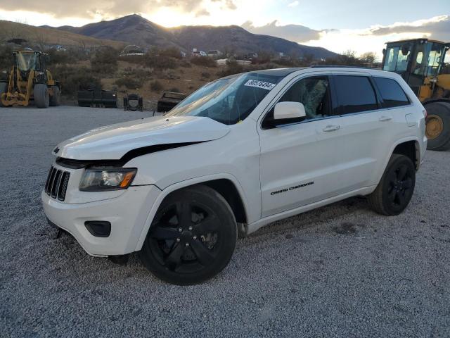
<svg viewBox="0 0 450 338">
<path fill-rule="evenodd" d="M 392 154 L 380 183 L 368 195 L 368 203 L 382 215 L 399 215 L 408 206 L 416 185 L 416 168 L 411 158 Z"/>
</svg>

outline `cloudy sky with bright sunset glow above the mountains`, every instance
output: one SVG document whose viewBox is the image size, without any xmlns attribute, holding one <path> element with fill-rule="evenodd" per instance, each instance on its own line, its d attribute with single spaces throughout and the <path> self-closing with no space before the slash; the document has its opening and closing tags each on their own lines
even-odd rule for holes
<svg viewBox="0 0 450 338">
<path fill-rule="evenodd" d="M 45 6 L 43 6 L 45 4 Z M 27 8 L 27 11 L 25 11 Z M 29 25 L 85 25 L 139 13 L 159 25 L 242 25 L 335 52 L 376 51 L 394 39 L 450 42 L 450 0 L 15 0 L 0 2 L 0 20 Z"/>
</svg>

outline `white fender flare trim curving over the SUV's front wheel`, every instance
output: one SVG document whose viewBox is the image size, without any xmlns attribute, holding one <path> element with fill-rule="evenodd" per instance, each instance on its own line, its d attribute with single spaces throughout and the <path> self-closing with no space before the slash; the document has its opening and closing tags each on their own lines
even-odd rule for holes
<svg viewBox="0 0 450 338">
<path fill-rule="evenodd" d="M 245 215 L 246 215 L 246 217 L 248 217 L 248 202 L 247 202 L 247 198 L 245 197 L 243 187 L 240 185 L 238 179 L 231 174 L 219 173 L 219 174 L 205 175 L 205 176 L 195 177 L 195 178 L 192 178 L 189 180 L 184 180 L 181 182 L 176 182 L 174 184 L 171 184 L 171 185 L 165 187 L 165 189 L 162 189 L 161 193 L 158 195 L 158 198 L 153 203 L 153 206 L 150 208 L 150 211 L 146 218 L 146 223 L 143 225 L 141 235 L 139 236 L 138 242 L 136 243 L 135 251 L 140 251 L 142 249 L 143 242 L 146 240 L 148 230 L 150 229 L 150 225 L 153 222 L 153 218 L 155 217 L 158 209 L 160 208 L 162 201 L 164 201 L 164 199 L 170 193 L 175 192 L 176 190 L 179 190 L 179 189 L 190 187 L 195 184 L 201 184 L 203 182 L 209 182 L 209 181 L 213 181 L 213 180 L 229 180 L 234 184 L 234 186 L 236 187 L 236 189 L 238 191 L 240 199 L 243 202 Z"/>
</svg>

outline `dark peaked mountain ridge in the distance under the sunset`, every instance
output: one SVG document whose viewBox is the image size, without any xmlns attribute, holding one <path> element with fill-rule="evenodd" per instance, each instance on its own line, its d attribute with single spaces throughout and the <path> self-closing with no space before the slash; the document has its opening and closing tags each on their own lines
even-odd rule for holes
<svg viewBox="0 0 450 338">
<path fill-rule="evenodd" d="M 137 44 L 142 47 L 176 46 L 190 51 L 219 49 L 220 51 L 245 52 L 283 52 L 304 56 L 312 54 L 315 58 L 328 58 L 338 54 L 321 47 L 297 44 L 286 39 L 269 35 L 256 35 L 239 26 L 181 26 L 166 28 L 156 25 L 140 15 L 127 15 L 110 21 L 91 23 L 82 27 L 62 26 L 58 30 L 72 32 L 96 39 L 110 39 Z"/>
</svg>

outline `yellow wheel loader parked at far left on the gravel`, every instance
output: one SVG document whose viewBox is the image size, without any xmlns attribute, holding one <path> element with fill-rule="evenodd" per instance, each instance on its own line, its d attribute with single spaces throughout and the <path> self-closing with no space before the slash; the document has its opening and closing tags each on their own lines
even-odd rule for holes
<svg viewBox="0 0 450 338">
<path fill-rule="evenodd" d="M 0 107 L 59 106 L 61 86 L 46 68 L 47 54 L 41 51 L 13 51 L 14 64 L 8 82 L 0 82 Z"/>
</svg>

